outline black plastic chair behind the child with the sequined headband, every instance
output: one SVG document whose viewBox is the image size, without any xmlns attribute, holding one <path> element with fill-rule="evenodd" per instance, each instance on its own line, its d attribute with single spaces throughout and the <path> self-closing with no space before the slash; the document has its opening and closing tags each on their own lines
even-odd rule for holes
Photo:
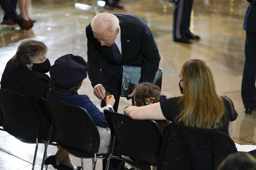
<svg viewBox="0 0 256 170">
<path fill-rule="evenodd" d="M 163 134 L 153 120 L 134 120 L 125 114 L 104 110 L 110 126 L 110 155 L 122 159 L 135 169 L 147 170 L 157 165 Z"/>
</svg>

